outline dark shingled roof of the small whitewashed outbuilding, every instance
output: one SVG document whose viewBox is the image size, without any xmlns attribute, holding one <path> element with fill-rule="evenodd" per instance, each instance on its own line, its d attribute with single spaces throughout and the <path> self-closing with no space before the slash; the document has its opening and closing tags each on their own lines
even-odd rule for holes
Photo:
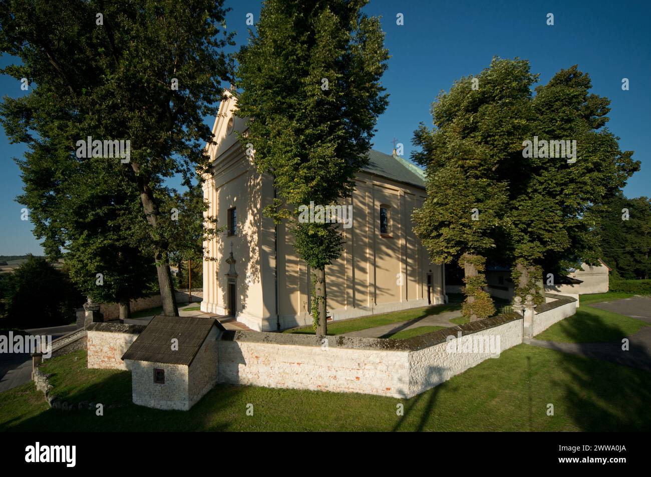
<svg viewBox="0 0 651 477">
<path fill-rule="evenodd" d="M 189 366 L 214 326 L 221 327 L 214 318 L 154 316 L 124 353 L 122 361 L 131 359 Z M 178 339 L 176 351 L 172 350 L 173 338 Z"/>
</svg>

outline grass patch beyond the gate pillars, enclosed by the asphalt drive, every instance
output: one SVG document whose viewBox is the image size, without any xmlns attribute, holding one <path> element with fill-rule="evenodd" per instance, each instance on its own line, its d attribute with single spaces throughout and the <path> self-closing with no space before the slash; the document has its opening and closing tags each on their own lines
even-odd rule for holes
<svg viewBox="0 0 651 477">
<path fill-rule="evenodd" d="M 581 304 L 576 314 L 551 325 L 537 334 L 537 340 L 562 343 L 598 343 L 620 341 L 648 326 L 642 320 Z"/>
</svg>

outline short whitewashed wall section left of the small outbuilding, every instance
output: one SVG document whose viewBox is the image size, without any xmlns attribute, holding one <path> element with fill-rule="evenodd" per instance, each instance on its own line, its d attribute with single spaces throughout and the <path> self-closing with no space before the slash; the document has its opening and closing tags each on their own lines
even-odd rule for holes
<svg viewBox="0 0 651 477">
<path fill-rule="evenodd" d="M 122 355 L 138 337 L 138 333 L 120 333 L 119 331 L 98 331 L 101 328 L 124 327 L 125 330 L 136 325 L 117 325 L 114 323 L 92 323 L 87 329 L 88 367 L 101 369 L 128 369 L 122 361 Z M 144 328 L 144 327 L 142 327 Z"/>
</svg>

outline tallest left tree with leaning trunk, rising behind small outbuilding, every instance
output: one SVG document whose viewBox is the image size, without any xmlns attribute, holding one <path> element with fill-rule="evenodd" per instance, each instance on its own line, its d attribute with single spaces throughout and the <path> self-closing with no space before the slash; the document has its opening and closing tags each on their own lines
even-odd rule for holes
<svg viewBox="0 0 651 477">
<path fill-rule="evenodd" d="M 208 167 L 212 131 L 203 118 L 217 114 L 221 80 L 229 77 L 225 12 L 221 0 L 4 0 L 0 8 L 0 50 L 21 60 L 3 73 L 30 85 L 26 96 L 3 98 L 8 137 L 57 141 L 79 162 L 86 159 L 74 152 L 87 137 L 130 141 L 120 176 L 137 188 L 168 315 L 178 314 L 168 232 L 171 199 L 180 196 L 165 180 L 180 174 L 189 187 Z M 49 192 L 41 193 L 47 202 Z M 47 207 L 31 217 L 40 217 L 46 247 L 61 244 Z"/>
</svg>

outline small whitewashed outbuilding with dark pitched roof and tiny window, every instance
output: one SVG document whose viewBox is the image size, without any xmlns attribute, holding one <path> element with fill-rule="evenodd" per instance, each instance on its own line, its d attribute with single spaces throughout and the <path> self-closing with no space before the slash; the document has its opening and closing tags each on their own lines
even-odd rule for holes
<svg viewBox="0 0 651 477">
<path fill-rule="evenodd" d="M 190 409 L 217 383 L 223 331 L 214 318 L 154 316 L 122 356 L 132 372 L 133 403 Z"/>
</svg>

